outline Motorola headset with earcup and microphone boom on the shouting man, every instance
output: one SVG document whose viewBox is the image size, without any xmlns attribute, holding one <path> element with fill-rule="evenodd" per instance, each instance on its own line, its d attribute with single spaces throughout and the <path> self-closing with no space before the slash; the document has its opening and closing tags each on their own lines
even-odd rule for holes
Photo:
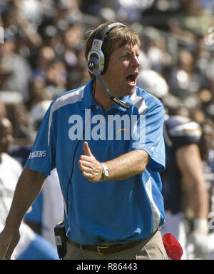
<svg viewBox="0 0 214 274">
<path fill-rule="evenodd" d="M 122 23 L 108 23 L 105 24 L 101 29 L 99 29 L 95 35 L 95 38 L 93 39 L 91 50 L 88 52 L 88 70 L 96 76 L 98 82 L 101 85 L 101 88 L 103 88 L 103 91 L 106 93 L 106 96 L 116 103 L 118 106 L 121 106 L 122 108 L 129 109 L 131 108 L 130 103 L 126 103 L 121 101 L 119 98 L 113 96 L 109 89 L 106 86 L 106 83 L 103 80 L 103 77 L 101 76 L 101 73 L 105 71 L 105 56 L 102 51 L 102 44 L 103 40 L 105 39 L 106 34 L 108 34 L 112 29 L 114 29 L 116 26 L 122 26 L 126 28 L 126 25 Z"/>
</svg>

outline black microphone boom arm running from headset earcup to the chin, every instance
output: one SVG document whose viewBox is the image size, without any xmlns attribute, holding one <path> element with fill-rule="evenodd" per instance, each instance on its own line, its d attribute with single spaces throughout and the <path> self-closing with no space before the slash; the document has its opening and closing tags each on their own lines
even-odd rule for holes
<svg viewBox="0 0 214 274">
<path fill-rule="evenodd" d="M 108 96 L 108 98 L 111 101 L 113 101 L 113 103 L 116 103 L 118 106 L 121 106 L 122 108 L 126 108 L 126 109 L 131 108 L 130 103 L 123 102 L 122 100 L 120 100 L 119 98 L 117 98 L 111 94 L 111 92 L 108 90 L 108 88 L 106 86 L 106 83 L 103 80 L 103 77 L 101 76 L 101 72 L 98 70 L 98 66 L 99 66 L 98 59 L 93 58 L 93 57 L 91 59 L 89 59 L 88 69 L 91 73 L 93 73 L 96 76 L 98 82 L 101 85 L 101 88 L 103 88 L 103 91 L 106 93 L 106 96 Z"/>
</svg>

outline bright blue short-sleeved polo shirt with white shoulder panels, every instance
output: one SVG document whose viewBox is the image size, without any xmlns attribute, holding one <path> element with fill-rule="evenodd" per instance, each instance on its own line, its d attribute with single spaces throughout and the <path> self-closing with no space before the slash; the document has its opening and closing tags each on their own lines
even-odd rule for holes
<svg viewBox="0 0 214 274">
<path fill-rule="evenodd" d="M 98 245 L 141 240 L 164 222 L 159 175 L 165 168 L 163 105 L 136 86 L 133 95 L 121 98 L 131 103 L 130 109 L 113 105 L 103 112 L 93 100 L 92 83 L 63 93 L 51 103 L 26 167 L 45 176 L 57 168 L 66 233 L 74 242 Z M 137 176 L 91 183 L 78 167 L 84 141 L 101 162 L 136 149 L 146 151 L 151 160 Z"/>
</svg>

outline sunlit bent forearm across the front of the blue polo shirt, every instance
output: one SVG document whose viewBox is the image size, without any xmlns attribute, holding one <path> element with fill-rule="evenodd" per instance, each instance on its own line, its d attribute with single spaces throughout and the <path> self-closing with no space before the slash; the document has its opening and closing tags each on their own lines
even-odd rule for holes
<svg viewBox="0 0 214 274">
<path fill-rule="evenodd" d="M 108 181 L 123 180 L 143 173 L 148 161 L 148 153 L 143 150 L 130 151 L 111 161 L 106 161 L 105 164 L 109 170 Z"/>
</svg>

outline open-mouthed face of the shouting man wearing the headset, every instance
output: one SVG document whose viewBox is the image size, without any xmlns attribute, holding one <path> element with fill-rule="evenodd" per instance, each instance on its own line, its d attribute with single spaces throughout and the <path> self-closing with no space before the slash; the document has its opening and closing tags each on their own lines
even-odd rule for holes
<svg viewBox="0 0 214 274">
<path fill-rule="evenodd" d="M 138 46 L 125 45 L 111 54 L 103 79 L 116 97 L 128 96 L 135 92 L 136 80 L 140 70 Z"/>
</svg>

